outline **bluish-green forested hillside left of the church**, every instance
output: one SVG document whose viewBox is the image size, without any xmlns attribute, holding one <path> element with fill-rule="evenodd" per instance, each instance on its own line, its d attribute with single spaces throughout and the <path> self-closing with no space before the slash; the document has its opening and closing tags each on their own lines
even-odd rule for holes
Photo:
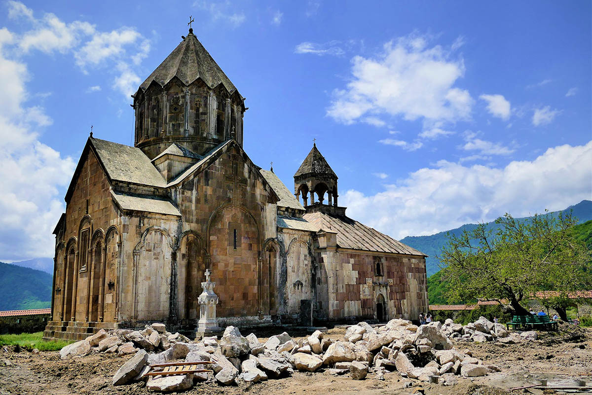
<svg viewBox="0 0 592 395">
<path fill-rule="evenodd" d="M 44 309 L 51 304 L 51 274 L 0 262 L 0 310 Z"/>
</svg>

